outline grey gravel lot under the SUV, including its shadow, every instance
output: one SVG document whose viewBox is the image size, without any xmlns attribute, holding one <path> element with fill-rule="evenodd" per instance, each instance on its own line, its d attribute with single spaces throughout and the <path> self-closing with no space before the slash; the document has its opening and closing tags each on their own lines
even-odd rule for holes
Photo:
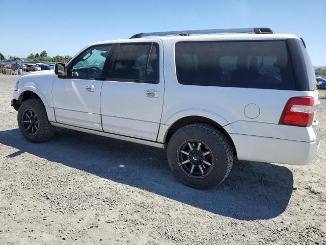
<svg viewBox="0 0 326 245">
<path fill-rule="evenodd" d="M 58 129 L 26 142 L 0 75 L 0 244 L 326 244 L 326 100 L 306 166 L 236 161 L 208 191 L 149 146 Z M 325 97 L 325 91 L 320 91 Z"/>
</svg>

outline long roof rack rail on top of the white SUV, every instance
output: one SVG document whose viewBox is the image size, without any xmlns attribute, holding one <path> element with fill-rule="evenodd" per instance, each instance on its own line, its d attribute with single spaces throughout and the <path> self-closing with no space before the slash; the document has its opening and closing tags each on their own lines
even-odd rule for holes
<svg viewBox="0 0 326 245">
<path fill-rule="evenodd" d="M 208 30 L 138 33 L 130 38 L 142 38 L 142 37 L 151 37 L 151 36 L 190 36 L 196 34 L 198 35 L 198 34 L 215 34 L 215 33 L 273 34 L 274 31 L 271 28 L 208 29 Z"/>
</svg>

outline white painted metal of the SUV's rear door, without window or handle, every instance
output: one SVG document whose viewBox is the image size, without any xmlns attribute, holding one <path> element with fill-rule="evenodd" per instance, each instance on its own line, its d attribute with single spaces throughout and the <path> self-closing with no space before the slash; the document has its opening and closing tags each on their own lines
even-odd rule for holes
<svg viewBox="0 0 326 245">
<path fill-rule="evenodd" d="M 101 114 L 104 132 L 156 141 L 164 100 L 163 46 L 159 39 L 159 83 L 104 81 L 101 92 Z M 144 42 L 128 39 L 123 42 Z M 158 97 L 147 97 L 155 89 Z"/>
</svg>

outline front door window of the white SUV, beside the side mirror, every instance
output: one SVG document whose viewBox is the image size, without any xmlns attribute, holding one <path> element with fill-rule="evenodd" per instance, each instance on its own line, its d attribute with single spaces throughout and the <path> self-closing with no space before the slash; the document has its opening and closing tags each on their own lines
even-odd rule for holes
<svg viewBox="0 0 326 245">
<path fill-rule="evenodd" d="M 79 78 L 101 78 L 104 62 L 111 46 L 110 44 L 88 48 L 74 59 L 69 75 Z"/>
</svg>

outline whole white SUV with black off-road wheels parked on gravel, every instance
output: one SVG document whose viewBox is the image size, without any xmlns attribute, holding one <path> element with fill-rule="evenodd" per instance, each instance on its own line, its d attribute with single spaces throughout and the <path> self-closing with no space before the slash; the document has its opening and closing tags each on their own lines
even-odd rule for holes
<svg viewBox="0 0 326 245">
<path fill-rule="evenodd" d="M 15 84 L 31 142 L 55 127 L 166 148 L 184 184 L 207 189 L 241 160 L 316 155 L 316 77 L 302 39 L 269 28 L 141 33 L 90 44 Z"/>
</svg>

